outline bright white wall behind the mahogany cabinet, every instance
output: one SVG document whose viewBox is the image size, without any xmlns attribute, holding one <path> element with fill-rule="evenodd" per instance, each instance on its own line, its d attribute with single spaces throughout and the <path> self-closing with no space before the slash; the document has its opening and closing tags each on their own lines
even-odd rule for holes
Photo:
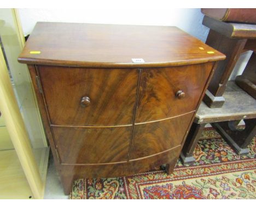
<svg viewBox="0 0 256 208">
<path fill-rule="evenodd" d="M 177 26 L 205 42 L 209 29 L 202 25 L 203 15 L 200 9 L 177 9 L 169 5 L 149 5 L 147 8 L 129 4 L 123 7 L 107 7 L 87 3 L 83 8 L 70 9 L 19 9 L 24 34 L 30 34 L 38 21 L 84 22 L 120 25 L 159 25 Z M 251 53 L 243 54 L 231 79 L 240 75 Z"/>
</svg>

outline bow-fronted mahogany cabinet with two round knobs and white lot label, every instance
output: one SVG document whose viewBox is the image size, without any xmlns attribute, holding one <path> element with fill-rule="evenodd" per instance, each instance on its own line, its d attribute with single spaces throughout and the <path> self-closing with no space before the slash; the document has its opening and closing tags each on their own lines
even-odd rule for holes
<svg viewBox="0 0 256 208">
<path fill-rule="evenodd" d="M 171 173 L 222 53 L 176 27 L 39 22 L 28 64 L 65 193 L 78 178 Z"/>
</svg>

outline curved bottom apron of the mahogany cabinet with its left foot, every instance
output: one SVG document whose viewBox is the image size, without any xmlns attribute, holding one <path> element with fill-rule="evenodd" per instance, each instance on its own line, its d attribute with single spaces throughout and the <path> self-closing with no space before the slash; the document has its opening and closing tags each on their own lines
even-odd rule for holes
<svg viewBox="0 0 256 208">
<path fill-rule="evenodd" d="M 69 194 L 72 190 L 73 181 L 76 179 L 90 178 L 113 178 L 116 176 L 127 176 L 137 173 L 146 172 L 161 164 L 177 161 L 177 156 L 181 152 L 181 146 L 177 146 L 169 151 L 152 157 L 142 158 L 141 160 L 130 161 L 119 164 L 95 164 L 95 165 L 60 165 L 61 181 L 65 194 Z"/>
</svg>

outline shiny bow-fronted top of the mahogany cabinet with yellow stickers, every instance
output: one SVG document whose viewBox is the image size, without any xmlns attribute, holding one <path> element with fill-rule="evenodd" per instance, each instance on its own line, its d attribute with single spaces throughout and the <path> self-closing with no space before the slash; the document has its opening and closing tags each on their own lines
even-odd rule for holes
<svg viewBox="0 0 256 208">
<path fill-rule="evenodd" d="M 214 62 L 224 54 L 177 27 L 38 22 L 19 62 L 101 68 Z M 143 59 L 144 63 L 133 63 Z"/>
</svg>

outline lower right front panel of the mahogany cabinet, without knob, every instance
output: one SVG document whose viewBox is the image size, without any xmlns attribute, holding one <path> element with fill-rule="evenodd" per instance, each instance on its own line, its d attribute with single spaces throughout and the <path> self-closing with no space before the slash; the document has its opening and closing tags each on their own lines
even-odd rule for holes
<svg viewBox="0 0 256 208">
<path fill-rule="evenodd" d="M 130 160 L 152 156 L 181 145 L 194 112 L 172 119 L 135 125 Z"/>
</svg>

